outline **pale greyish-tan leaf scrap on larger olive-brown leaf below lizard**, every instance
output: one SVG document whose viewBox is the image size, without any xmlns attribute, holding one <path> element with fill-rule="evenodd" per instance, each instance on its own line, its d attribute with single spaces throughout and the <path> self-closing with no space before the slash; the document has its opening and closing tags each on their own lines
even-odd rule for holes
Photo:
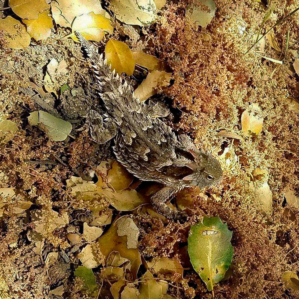
<svg viewBox="0 0 299 299">
<path fill-rule="evenodd" d="M 128 216 L 120 217 L 117 220 L 117 234 L 122 237 L 127 237 L 127 248 L 137 248 L 138 247 L 138 236 L 139 229 L 137 228 L 134 221 Z"/>
</svg>

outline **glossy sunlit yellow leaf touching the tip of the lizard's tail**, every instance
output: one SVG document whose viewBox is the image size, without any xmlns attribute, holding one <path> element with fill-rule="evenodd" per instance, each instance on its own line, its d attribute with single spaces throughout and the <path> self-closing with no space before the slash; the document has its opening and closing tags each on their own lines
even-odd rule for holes
<svg viewBox="0 0 299 299">
<path fill-rule="evenodd" d="M 113 32 L 113 27 L 109 19 L 91 12 L 76 17 L 72 25 L 72 33 L 65 36 L 65 38 L 71 37 L 75 42 L 79 42 L 74 31 L 80 32 L 86 40 L 99 42 L 106 33 L 111 34 Z"/>
</svg>

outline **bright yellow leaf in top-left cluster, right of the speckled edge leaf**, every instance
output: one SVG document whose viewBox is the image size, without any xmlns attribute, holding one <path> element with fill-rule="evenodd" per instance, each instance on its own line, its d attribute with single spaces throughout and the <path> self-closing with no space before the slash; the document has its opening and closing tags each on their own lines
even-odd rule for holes
<svg viewBox="0 0 299 299">
<path fill-rule="evenodd" d="M 53 28 L 52 18 L 48 16 L 49 10 L 39 13 L 37 19 L 22 20 L 27 25 L 27 32 L 36 41 L 46 39 L 51 35 L 51 28 Z"/>
</svg>

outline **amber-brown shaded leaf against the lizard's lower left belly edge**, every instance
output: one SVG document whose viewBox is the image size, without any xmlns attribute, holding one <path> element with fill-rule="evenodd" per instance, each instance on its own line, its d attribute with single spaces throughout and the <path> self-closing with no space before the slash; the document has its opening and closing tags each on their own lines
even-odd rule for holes
<svg viewBox="0 0 299 299">
<path fill-rule="evenodd" d="M 132 183 L 133 175 L 118 161 L 114 161 L 112 169 L 108 172 L 107 179 L 114 190 L 123 190 Z"/>
</svg>

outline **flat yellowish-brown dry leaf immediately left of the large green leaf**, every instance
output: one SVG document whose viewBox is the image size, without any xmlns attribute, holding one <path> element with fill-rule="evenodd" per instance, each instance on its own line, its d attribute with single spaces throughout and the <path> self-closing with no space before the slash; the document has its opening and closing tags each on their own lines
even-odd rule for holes
<svg viewBox="0 0 299 299">
<path fill-rule="evenodd" d="M 151 262 L 147 262 L 149 269 L 155 273 L 174 275 L 178 273 L 183 277 L 183 267 L 176 259 L 156 256 Z"/>
</svg>

